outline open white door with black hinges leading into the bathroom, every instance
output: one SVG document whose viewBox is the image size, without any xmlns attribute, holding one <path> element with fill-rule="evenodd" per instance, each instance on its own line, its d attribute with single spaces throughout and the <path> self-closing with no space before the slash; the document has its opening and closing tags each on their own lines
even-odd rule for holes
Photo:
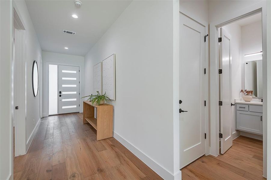
<svg viewBox="0 0 271 180">
<path fill-rule="evenodd" d="M 232 136 L 232 83 L 231 83 L 231 35 L 225 29 L 220 28 L 220 37 L 222 41 L 219 43 L 219 67 L 222 74 L 219 74 L 220 101 L 220 153 L 224 154 L 233 145 Z"/>
</svg>

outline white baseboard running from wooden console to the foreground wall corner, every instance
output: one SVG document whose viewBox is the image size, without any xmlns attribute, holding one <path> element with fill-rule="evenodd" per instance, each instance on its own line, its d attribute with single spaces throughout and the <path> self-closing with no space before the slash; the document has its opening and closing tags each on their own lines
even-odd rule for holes
<svg viewBox="0 0 271 180">
<path fill-rule="evenodd" d="M 154 172 L 156 172 L 159 176 L 166 180 L 181 180 L 181 171 L 180 173 L 176 173 L 175 175 L 171 174 L 168 170 L 154 161 L 152 158 L 141 152 L 134 145 L 129 143 L 119 134 L 113 132 L 113 137 L 118 140 L 123 146 L 125 146 L 129 151 L 131 151 L 137 158 L 139 158 L 143 163 L 145 163 L 148 167 L 150 167 Z"/>
</svg>

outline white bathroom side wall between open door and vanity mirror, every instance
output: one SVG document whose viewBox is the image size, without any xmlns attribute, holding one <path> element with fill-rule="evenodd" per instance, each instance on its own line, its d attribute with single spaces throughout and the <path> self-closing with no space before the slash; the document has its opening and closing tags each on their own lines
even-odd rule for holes
<svg viewBox="0 0 271 180">
<path fill-rule="evenodd" d="M 231 36 L 231 54 L 232 54 L 232 103 L 234 99 L 242 98 L 240 90 L 242 89 L 242 33 L 241 26 L 237 22 L 223 27 Z M 232 107 L 232 133 L 235 130 L 235 109 Z"/>
</svg>

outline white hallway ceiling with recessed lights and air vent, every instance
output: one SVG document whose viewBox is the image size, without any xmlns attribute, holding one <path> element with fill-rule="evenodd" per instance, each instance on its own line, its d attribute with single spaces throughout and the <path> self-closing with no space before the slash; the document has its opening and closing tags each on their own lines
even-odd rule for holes
<svg viewBox="0 0 271 180">
<path fill-rule="evenodd" d="M 26 0 L 43 51 L 84 56 L 131 3 L 130 0 Z M 74 19 L 72 14 L 79 18 Z M 76 32 L 64 34 L 63 29 Z M 69 49 L 64 49 L 67 46 Z"/>
</svg>

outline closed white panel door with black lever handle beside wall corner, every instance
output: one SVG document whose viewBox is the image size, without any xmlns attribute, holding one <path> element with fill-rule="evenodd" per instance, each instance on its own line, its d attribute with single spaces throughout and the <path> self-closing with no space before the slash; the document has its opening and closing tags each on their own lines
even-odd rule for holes
<svg viewBox="0 0 271 180">
<path fill-rule="evenodd" d="M 180 14 L 180 168 L 205 155 L 205 27 Z"/>
</svg>

